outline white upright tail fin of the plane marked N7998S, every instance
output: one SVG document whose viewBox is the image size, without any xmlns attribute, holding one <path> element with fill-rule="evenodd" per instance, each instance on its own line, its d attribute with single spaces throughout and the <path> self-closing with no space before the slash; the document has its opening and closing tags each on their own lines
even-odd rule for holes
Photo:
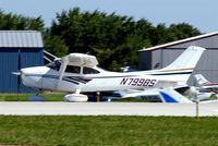
<svg viewBox="0 0 218 146">
<path fill-rule="evenodd" d="M 197 64 L 205 48 L 190 46 L 174 62 L 164 68 L 162 70 L 191 69 Z"/>
</svg>

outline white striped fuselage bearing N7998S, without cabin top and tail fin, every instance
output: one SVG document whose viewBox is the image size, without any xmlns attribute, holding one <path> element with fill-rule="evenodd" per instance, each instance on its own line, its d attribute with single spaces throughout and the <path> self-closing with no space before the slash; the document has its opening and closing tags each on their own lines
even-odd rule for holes
<svg viewBox="0 0 218 146">
<path fill-rule="evenodd" d="M 48 66 L 26 68 L 21 72 L 23 84 L 26 86 L 70 93 L 76 89 L 81 92 L 144 89 L 174 84 L 174 82 L 166 84 L 158 76 L 108 72 L 100 69 L 97 74 L 64 73 L 61 80 L 59 80 L 59 72 Z"/>
</svg>

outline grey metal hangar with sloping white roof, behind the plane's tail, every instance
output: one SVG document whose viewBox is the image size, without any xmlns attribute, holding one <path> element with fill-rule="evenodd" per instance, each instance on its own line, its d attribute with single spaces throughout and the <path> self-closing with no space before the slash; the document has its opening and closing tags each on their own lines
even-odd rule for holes
<svg viewBox="0 0 218 146">
<path fill-rule="evenodd" d="M 173 62 L 189 46 L 199 46 L 207 50 L 198 61 L 190 85 L 195 84 L 193 74 L 203 74 L 208 81 L 218 81 L 218 32 L 204 34 L 165 45 L 140 50 L 140 70 L 161 69 Z"/>
</svg>

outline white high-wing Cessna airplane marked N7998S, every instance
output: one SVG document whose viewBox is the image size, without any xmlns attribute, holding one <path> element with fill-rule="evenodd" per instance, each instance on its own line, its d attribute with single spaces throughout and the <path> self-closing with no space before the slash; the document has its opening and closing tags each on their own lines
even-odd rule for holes
<svg viewBox="0 0 218 146">
<path fill-rule="evenodd" d="M 68 92 L 65 98 L 70 101 L 87 101 L 81 93 L 183 86 L 204 50 L 191 46 L 164 69 L 128 73 L 98 68 L 94 56 L 70 53 L 45 66 L 22 69 L 20 74 L 28 87 Z"/>
</svg>

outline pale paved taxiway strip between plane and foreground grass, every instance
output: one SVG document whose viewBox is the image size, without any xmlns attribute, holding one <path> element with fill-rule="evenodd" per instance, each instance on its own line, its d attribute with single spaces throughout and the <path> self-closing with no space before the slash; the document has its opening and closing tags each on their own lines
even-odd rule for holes
<svg viewBox="0 0 218 146">
<path fill-rule="evenodd" d="M 146 102 L 0 102 L 9 115 L 185 115 L 194 117 L 195 104 Z M 218 115 L 218 104 L 199 104 L 199 115 Z"/>
</svg>

